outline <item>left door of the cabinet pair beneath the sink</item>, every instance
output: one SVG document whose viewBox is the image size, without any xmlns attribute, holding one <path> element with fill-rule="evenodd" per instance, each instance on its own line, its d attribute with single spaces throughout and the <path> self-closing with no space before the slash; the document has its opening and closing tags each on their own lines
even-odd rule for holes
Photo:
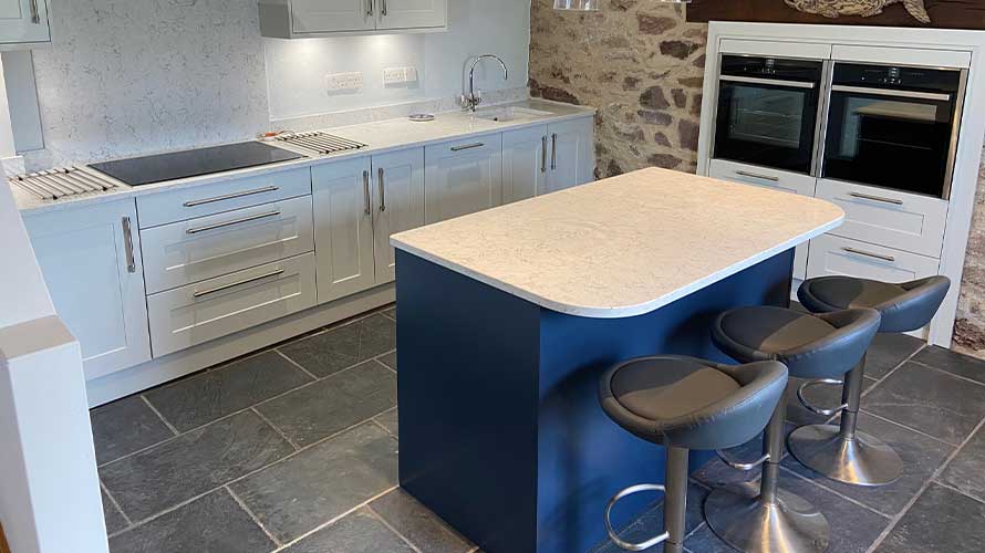
<svg viewBox="0 0 985 553">
<path fill-rule="evenodd" d="M 502 133 L 502 202 L 525 200 L 547 187 L 546 125 Z"/>
</svg>

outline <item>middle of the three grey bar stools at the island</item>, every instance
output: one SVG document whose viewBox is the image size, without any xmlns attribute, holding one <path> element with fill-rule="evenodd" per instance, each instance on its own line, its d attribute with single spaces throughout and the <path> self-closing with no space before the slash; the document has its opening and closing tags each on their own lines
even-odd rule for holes
<svg viewBox="0 0 985 553">
<path fill-rule="evenodd" d="M 790 376 L 829 378 L 844 374 L 859 362 L 879 328 L 879 312 L 873 310 L 811 315 L 770 306 L 740 307 L 718 316 L 712 338 L 739 362 L 774 359 L 787 365 Z M 786 411 L 782 399 L 766 427 L 759 460 L 739 465 L 723 456 L 735 469 L 763 466 L 758 493 L 719 489 L 705 501 L 705 518 L 712 531 L 743 552 L 828 549 L 825 515 L 803 498 L 778 486 Z"/>
</svg>

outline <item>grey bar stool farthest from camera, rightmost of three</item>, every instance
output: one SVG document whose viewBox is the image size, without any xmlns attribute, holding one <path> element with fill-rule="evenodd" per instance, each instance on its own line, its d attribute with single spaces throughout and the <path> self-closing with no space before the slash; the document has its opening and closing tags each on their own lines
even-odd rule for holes
<svg viewBox="0 0 985 553">
<path fill-rule="evenodd" d="M 857 307 L 877 310 L 882 314 L 879 332 L 894 333 L 926 326 L 950 288 L 951 281 L 946 276 L 901 284 L 852 276 L 821 276 L 805 281 L 797 296 L 815 313 Z M 839 425 L 798 428 L 790 434 L 787 445 L 801 465 L 832 480 L 856 486 L 885 486 L 903 473 L 903 460 L 885 442 L 856 428 L 864 374 L 863 356 L 843 379 L 805 383 L 798 390 L 800 403 L 821 415 L 841 413 L 841 421 Z M 829 410 L 811 406 L 803 399 L 803 389 L 813 384 L 843 385 L 841 405 Z"/>
</svg>

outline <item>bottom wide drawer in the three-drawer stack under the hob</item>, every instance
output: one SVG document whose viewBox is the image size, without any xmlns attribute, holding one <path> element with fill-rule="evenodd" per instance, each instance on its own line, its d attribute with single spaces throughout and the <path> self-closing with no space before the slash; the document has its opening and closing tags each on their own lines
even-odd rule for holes
<svg viewBox="0 0 985 553">
<path fill-rule="evenodd" d="M 314 306 L 314 253 L 147 296 L 154 357 Z"/>
</svg>

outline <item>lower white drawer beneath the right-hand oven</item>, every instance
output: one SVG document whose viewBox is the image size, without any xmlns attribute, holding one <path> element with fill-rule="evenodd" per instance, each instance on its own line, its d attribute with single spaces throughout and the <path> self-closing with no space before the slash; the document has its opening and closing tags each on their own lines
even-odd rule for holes
<svg viewBox="0 0 985 553">
<path fill-rule="evenodd" d="M 808 278 L 847 274 L 884 282 L 905 282 L 937 274 L 940 261 L 915 253 L 825 234 L 810 242 Z"/>
</svg>

